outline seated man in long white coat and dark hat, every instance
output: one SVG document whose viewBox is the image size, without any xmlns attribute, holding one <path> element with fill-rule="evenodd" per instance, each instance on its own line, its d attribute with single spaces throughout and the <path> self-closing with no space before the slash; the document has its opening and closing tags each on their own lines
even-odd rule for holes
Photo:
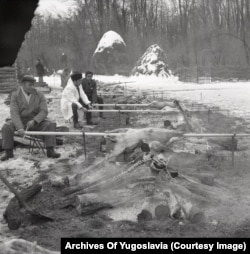
<svg viewBox="0 0 250 254">
<path fill-rule="evenodd" d="M 81 102 L 87 105 L 87 109 L 91 109 L 90 101 L 82 89 L 82 74 L 73 72 L 70 79 L 62 92 L 61 111 L 65 120 L 73 117 L 74 128 L 81 129 L 82 126 L 78 122 L 78 110 L 86 111 Z"/>
</svg>

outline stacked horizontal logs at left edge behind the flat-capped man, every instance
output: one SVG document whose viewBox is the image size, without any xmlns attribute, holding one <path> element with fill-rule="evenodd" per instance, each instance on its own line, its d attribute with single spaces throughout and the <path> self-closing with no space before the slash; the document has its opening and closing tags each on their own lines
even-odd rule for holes
<svg viewBox="0 0 250 254">
<path fill-rule="evenodd" d="M 10 93 L 17 88 L 15 67 L 0 68 L 0 93 Z"/>
</svg>

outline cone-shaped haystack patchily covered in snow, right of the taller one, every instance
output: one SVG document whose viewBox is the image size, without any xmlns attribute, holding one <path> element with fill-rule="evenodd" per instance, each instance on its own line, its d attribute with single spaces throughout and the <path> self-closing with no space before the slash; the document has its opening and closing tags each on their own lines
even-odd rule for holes
<svg viewBox="0 0 250 254">
<path fill-rule="evenodd" d="M 171 72 L 168 69 L 166 54 L 157 44 L 151 45 L 137 61 L 131 75 L 169 77 Z"/>
</svg>

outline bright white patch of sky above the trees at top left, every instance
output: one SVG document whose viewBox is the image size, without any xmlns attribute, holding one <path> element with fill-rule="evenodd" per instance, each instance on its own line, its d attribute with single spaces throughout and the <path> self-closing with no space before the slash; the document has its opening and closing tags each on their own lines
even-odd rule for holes
<svg viewBox="0 0 250 254">
<path fill-rule="evenodd" d="M 39 0 L 36 14 L 42 16 L 69 16 L 76 9 L 76 0 Z"/>
</svg>

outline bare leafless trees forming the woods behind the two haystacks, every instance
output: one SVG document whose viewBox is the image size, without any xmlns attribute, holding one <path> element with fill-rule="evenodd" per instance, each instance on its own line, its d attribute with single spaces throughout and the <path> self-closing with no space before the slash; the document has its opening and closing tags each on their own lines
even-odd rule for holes
<svg viewBox="0 0 250 254">
<path fill-rule="evenodd" d="M 70 17 L 36 15 L 18 54 L 23 68 L 41 58 L 60 69 L 86 70 L 102 35 L 119 33 L 127 44 L 128 70 L 152 44 L 163 48 L 170 69 L 249 66 L 249 0 L 77 0 Z"/>
</svg>

